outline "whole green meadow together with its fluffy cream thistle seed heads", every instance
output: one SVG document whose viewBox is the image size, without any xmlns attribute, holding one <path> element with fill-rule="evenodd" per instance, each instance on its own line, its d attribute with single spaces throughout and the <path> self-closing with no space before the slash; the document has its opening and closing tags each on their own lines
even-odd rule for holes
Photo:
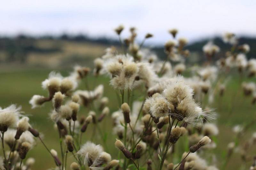
<svg viewBox="0 0 256 170">
<path fill-rule="evenodd" d="M 166 60 L 144 46 L 152 34 L 137 44 L 123 29 L 94 65 L 1 70 L 0 168 L 256 169 L 250 47 L 227 33 L 225 55 L 210 41 L 191 65 L 176 29 Z"/>
</svg>

